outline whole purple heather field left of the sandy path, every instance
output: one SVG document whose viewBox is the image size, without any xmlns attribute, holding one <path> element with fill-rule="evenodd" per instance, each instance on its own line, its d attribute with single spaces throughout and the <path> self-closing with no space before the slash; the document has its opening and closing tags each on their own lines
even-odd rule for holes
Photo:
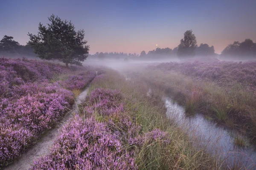
<svg viewBox="0 0 256 170">
<path fill-rule="evenodd" d="M 55 125 L 95 76 L 90 67 L 0 58 L 0 166 Z"/>
</svg>

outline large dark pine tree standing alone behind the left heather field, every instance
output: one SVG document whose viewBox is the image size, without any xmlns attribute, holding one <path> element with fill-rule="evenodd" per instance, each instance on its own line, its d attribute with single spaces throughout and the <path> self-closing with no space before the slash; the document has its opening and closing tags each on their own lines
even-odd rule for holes
<svg viewBox="0 0 256 170">
<path fill-rule="evenodd" d="M 41 59 L 58 59 L 68 64 L 81 65 L 87 58 L 89 45 L 84 40 L 84 30 L 75 31 L 73 23 L 63 21 L 52 14 L 50 23 L 43 26 L 39 23 L 38 34 L 28 34 L 29 44 Z"/>
</svg>

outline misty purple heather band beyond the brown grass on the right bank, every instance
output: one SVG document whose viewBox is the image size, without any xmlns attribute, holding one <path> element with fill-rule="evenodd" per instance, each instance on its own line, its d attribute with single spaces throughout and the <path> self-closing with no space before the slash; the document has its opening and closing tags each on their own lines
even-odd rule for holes
<svg viewBox="0 0 256 170">
<path fill-rule="evenodd" d="M 177 71 L 198 80 L 210 79 L 225 86 L 239 82 L 253 91 L 256 85 L 256 62 L 168 62 L 149 68 Z"/>
</svg>

